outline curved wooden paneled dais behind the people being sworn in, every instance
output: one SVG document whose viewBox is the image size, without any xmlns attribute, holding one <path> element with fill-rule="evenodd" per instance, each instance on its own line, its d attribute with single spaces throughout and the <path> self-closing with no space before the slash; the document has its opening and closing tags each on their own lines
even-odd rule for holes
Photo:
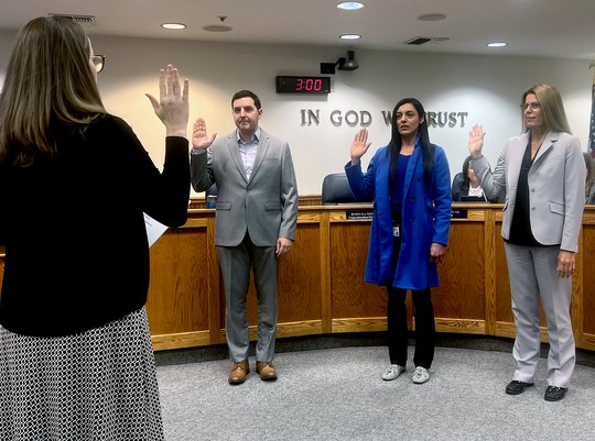
<svg viewBox="0 0 595 441">
<path fill-rule="evenodd" d="M 439 332 L 515 337 L 501 207 L 453 206 L 457 217 L 440 266 L 441 286 L 432 290 Z M 370 211 L 367 205 L 301 206 L 296 242 L 280 265 L 279 338 L 386 329 L 386 291 L 363 282 Z M 225 343 L 225 296 L 214 231 L 215 210 L 191 209 L 183 228 L 169 230 L 151 247 L 147 310 L 155 350 Z M 574 337 L 577 348 L 595 350 L 595 207 L 585 208 L 576 260 Z M 0 280 L 3 265 L 0 254 Z M 248 297 L 255 339 L 252 282 Z M 547 341 L 544 328 L 542 335 Z"/>
</svg>

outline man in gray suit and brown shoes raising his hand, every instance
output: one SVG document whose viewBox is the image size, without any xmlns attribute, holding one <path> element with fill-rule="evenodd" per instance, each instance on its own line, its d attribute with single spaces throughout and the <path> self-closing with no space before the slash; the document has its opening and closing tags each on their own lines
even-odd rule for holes
<svg viewBox="0 0 595 441">
<path fill-rule="evenodd" d="M 253 267 L 258 296 L 256 370 L 262 381 L 277 379 L 272 365 L 277 333 L 278 260 L 295 240 L 298 185 L 289 144 L 259 128 L 260 99 L 249 90 L 231 98 L 237 130 L 215 141 L 205 121 L 194 124 L 192 186 L 217 186 L 215 246 L 221 267 L 229 355 L 229 384 L 246 381 L 249 334 L 246 297 Z"/>
</svg>

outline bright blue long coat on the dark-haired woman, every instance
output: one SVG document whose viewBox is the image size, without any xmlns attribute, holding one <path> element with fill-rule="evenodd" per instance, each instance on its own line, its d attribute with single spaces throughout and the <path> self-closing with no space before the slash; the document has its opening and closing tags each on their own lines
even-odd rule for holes
<svg viewBox="0 0 595 441">
<path fill-rule="evenodd" d="M 379 148 L 366 174 L 360 163 L 345 166 L 358 200 L 374 199 L 374 216 L 365 280 L 402 289 L 439 286 L 437 267 L 430 262 L 432 243 L 448 243 L 451 228 L 451 172 L 444 150 L 435 146 L 432 185 L 425 189 L 421 147 L 415 145 L 404 177 L 401 252 L 392 272 L 392 216 L 387 147 Z"/>
</svg>

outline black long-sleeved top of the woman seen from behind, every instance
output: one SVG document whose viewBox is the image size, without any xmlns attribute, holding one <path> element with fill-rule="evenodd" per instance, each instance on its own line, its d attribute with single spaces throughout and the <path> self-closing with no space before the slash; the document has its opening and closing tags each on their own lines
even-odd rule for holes
<svg viewBox="0 0 595 441">
<path fill-rule="evenodd" d="M 20 334 L 72 334 L 141 308 L 143 212 L 170 227 L 187 217 L 186 139 L 166 137 L 163 173 L 117 117 L 101 115 L 83 133 L 64 129 L 58 139 L 54 158 L 0 166 L 0 324 Z"/>
</svg>

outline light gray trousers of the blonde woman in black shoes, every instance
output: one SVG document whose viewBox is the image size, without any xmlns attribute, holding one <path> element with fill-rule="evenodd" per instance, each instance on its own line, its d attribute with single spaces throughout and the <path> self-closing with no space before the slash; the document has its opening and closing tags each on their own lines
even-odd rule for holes
<svg viewBox="0 0 595 441">
<path fill-rule="evenodd" d="M 540 354 L 539 302 L 548 321 L 548 384 L 569 387 L 576 362 L 570 316 L 572 278 L 558 276 L 558 246 L 505 243 L 517 338 L 512 379 L 532 383 Z"/>
</svg>

